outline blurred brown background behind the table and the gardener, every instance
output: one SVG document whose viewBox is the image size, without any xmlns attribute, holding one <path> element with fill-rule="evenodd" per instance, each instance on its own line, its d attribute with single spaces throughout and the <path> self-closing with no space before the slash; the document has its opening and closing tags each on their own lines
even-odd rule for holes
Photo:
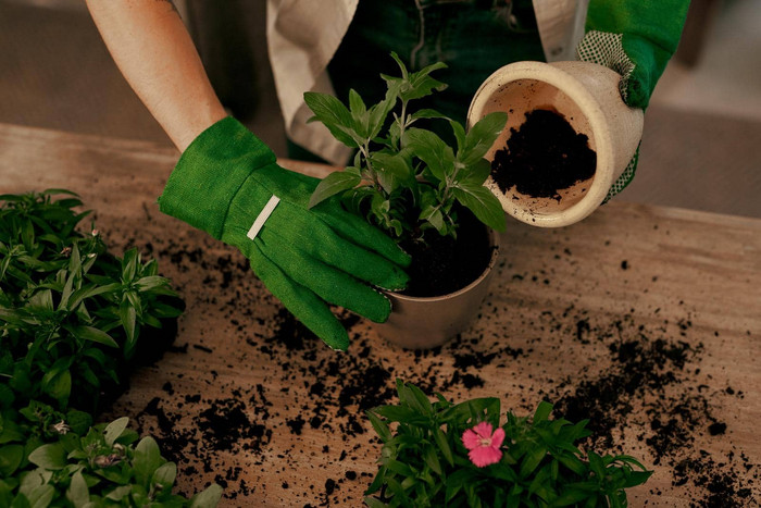
<svg viewBox="0 0 761 508">
<path fill-rule="evenodd" d="M 223 103 L 285 156 L 266 2 L 176 4 Z M 84 0 L 0 0 L 0 123 L 172 146 Z M 616 199 L 761 218 L 761 1 L 693 0 L 645 116 L 637 176 Z"/>
</svg>

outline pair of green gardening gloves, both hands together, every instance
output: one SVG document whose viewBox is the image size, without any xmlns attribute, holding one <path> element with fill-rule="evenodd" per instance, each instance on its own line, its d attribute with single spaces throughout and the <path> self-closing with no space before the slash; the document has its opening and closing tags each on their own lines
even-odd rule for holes
<svg viewBox="0 0 761 508">
<path fill-rule="evenodd" d="M 678 42 L 688 0 L 592 0 L 581 60 L 622 74 L 621 94 L 645 108 Z M 611 193 L 634 176 L 636 157 Z M 296 318 L 328 346 L 347 332 L 326 302 L 376 322 L 391 311 L 375 287 L 401 289 L 409 257 L 337 199 L 310 209 L 319 181 L 284 170 L 275 154 L 232 117 L 185 150 L 159 198 L 162 212 L 238 248 Z"/>
</svg>

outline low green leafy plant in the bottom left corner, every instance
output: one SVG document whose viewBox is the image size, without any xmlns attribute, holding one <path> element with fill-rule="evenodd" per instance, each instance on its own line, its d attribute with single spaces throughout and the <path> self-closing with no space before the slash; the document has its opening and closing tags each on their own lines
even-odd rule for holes
<svg viewBox="0 0 761 508">
<path fill-rule="evenodd" d="M 26 421 L 17 421 L 23 416 Z M 2 413 L 0 506 L 213 507 L 214 484 L 186 499 L 172 493 L 177 466 L 152 437 L 138 442 L 128 419 L 89 428 L 86 413 L 33 402 Z M 88 430 L 89 429 L 89 430 Z"/>
</svg>

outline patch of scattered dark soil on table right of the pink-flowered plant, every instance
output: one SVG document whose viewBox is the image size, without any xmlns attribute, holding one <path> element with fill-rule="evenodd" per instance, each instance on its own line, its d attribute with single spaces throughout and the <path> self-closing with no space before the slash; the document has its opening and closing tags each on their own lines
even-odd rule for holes
<svg viewBox="0 0 761 508">
<path fill-rule="evenodd" d="M 566 315 L 573 312 L 566 310 Z M 631 314 L 598 326 L 586 318 L 576 318 L 576 340 L 603 343 L 609 358 L 601 360 L 607 367 L 586 369 L 547 394 L 554 401 L 556 413 L 571 421 L 589 419 L 587 429 L 592 436 L 588 446 L 609 453 L 629 453 L 622 449 L 621 437 L 633 424 L 643 425 L 645 431 L 636 438 L 649 449 L 654 467 L 673 471 L 675 486 L 691 484 L 699 488 L 690 507 L 750 506 L 752 480 L 746 484 L 739 473 L 750 468 L 747 457 L 745 463 L 738 463 L 734 457 L 718 460 L 706 450 L 695 449 L 698 436 L 723 434 L 727 424 L 713 412 L 711 398 L 715 394 L 697 382 L 700 369 L 695 365 L 703 345 L 687 339 L 691 321 L 679 321 L 674 337 L 665 332 L 668 322 L 660 329 L 648 329 L 638 325 Z M 695 385 L 699 389 L 684 388 Z"/>
</svg>

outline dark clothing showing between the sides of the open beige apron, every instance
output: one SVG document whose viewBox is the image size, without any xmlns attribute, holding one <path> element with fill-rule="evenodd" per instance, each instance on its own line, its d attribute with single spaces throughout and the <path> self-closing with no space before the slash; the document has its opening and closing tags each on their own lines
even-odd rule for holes
<svg viewBox="0 0 761 508">
<path fill-rule="evenodd" d="M 531 0 L 432 1 L 360 0 L 351 25 L 328 65 L 336 96 L 348 101 L 349 89 L 366 103 L 382 100 L 380 73 L 399 75 L 395 51 L 410 71 L 444 62 L 433 76 L 448 88 L 415 101 L 465 123 L 481 84 L 497 69 L 521 60 L 545 60 Z M 433 122 L 437 134 L 454 143 L 446 122 Z"/>
</svg>

